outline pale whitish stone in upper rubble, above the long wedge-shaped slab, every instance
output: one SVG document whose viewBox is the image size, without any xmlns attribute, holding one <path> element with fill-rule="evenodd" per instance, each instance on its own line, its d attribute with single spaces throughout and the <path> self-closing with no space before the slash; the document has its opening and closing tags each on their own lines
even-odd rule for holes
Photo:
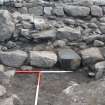
<svg viewBox="0 0 105 105">
<path fill-rule="evenodd" d="M 34 25 L 37 30 L 46 30 L 49 28 L 47 20 L 40 17 L 34 18 Z"/>
</svg>

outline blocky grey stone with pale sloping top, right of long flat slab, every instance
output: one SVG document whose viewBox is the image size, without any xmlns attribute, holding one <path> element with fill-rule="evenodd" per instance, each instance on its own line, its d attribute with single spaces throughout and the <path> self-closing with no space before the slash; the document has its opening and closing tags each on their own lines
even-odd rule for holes
<svg viewBox="0 0 105 105">
<path fill-rule="evenodd" d="M 81 38 L 81 31 L 76 28 L 63 27 L 57 30 L 57 39 L 78 40 Z"/>
</svg>

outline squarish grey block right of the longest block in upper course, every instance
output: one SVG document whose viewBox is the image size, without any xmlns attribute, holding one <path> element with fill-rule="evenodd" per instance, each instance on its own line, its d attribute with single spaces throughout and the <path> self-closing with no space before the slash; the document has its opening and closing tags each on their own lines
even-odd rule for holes
<svg viewBox="0 0 105 105">
<path fill-rule="evenodd" d="M 91 15 L 97 16 L 97 17 L 102 17 L 103 16 L 102 8 L 99 6 L 92 6 L 91 7 Z"/>
</svg>

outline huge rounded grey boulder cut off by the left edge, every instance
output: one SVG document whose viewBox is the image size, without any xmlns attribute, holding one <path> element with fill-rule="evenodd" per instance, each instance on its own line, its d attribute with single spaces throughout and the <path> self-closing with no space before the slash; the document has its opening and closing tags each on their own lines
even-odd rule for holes
<svg viewBox="0 0 105 105">
<path fill-rule="evenodd" d="M 11 38 L 15 24 L 8 10 L 0 10 L 0 41 Z"/>
</svg>

